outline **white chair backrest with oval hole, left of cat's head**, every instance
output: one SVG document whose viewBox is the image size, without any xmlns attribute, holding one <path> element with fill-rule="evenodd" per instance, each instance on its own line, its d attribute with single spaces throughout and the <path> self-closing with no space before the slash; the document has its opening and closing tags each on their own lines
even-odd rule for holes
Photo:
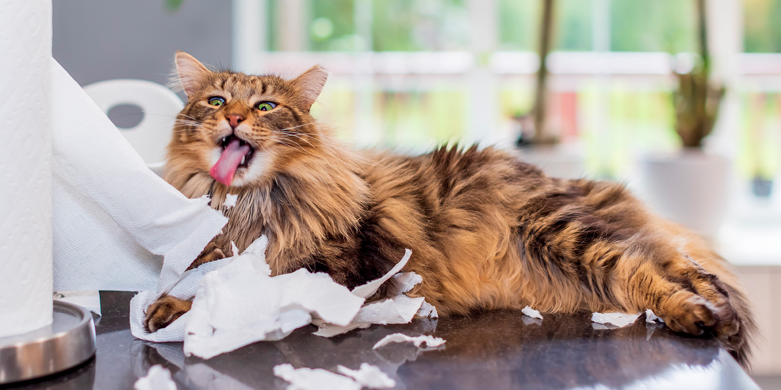
<svg viewBox="0 0 781 390">
<path fill-rule="evenodd" d="M 177 94 L 152 81 L 129 79 L 98 81 L 84 87 L 84 91 L 106 114 L 118 105 L 140 107 L 144 112 L 141 122 L 129 129 L 119 128 L 120 133 L 144 162 L 161 165 L 177 112 L 184 107 Z"/>
</svg>

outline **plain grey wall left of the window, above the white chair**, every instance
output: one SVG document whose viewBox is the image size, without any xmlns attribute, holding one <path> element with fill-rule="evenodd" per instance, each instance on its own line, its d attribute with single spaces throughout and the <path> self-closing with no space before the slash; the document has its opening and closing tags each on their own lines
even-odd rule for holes
<svg viewBox="0 0 781 390">
<path fill-rule="evenodd" d="M 54 0 L 54 58 L 81 85 L 132 78 L 165 84 L 183 50 L 206 64 L 230 66 L 231 2 Z"/>
</svg>

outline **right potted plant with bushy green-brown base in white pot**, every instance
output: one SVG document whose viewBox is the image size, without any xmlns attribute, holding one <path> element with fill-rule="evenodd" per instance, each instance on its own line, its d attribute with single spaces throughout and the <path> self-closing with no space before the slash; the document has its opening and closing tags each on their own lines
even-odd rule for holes
<svg viewBox="0 0 781 390">
<path fill-rule="evenodd" d="M 646 156 L 640 173 L 656 211 L 712 238 L 725 216 L 731 163 L 703 150 L 725 93 L 711 77 L 705 16 L 705 0 L 697 0 L 699 58 L 690 70 L 674 73 L 672 107 L 682 147 L 675 154 Z"/>
</svg>

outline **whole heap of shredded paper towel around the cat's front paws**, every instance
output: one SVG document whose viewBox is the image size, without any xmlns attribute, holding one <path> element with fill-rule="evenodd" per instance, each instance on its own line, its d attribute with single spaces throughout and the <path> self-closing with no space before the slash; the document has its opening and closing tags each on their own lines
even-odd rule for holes
<svg viewBox="0 0 781 390">
<path fill-rule="evenodd" d="M 240 255 L 185 272 L 168 294 L 193 300 L 191 310 L 157 332 L 144 330 L 144 310 L 158 295 L 144 291 L 134 296 L 130 301 L 130 332 L 138 339 L 152 342 L 184 341 L 187 356 L 209 359 L 252 342 L 284 339 L 294 329 L 311 323 L 312 317 L 316 317 L 317 324 L 335 329 L 333 334 L 338 334 L 347 332 L 344 329 L 355 323 L 407 323 L 419 312 L 436 315 L 434 307 L 423 307 L 422 297 L 409 298 L 402 293 L 363 306 L 365 299 L 361 295 L 372 296 L 382 284 L 380 281 L 394 277 L 412 256 L 411 250 L 406 250 L 405 257 L 383 278 L 350 292 L 329 275 L 312 274 L 305 269 L 270 276 L 267 244 L 268 239 L 262 236 Z M 235 246 L 234 254 L 238 254 Z M 398 275 L 402 292 L 423 280 L 419 275 L 408 274 L 411 275 Z"/>
</svg>

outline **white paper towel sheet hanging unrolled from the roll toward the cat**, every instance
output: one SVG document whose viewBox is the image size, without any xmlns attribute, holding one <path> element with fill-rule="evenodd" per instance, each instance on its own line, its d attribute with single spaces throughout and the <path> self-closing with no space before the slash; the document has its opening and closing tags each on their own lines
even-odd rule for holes
<svg viewBox="0 0 781 390">
<path fill-rule="evenodd" d="M 48 61 L 54 289 L 169 289 L 227 218 L 147 168 L 65 69 Z"/>
</svg>

